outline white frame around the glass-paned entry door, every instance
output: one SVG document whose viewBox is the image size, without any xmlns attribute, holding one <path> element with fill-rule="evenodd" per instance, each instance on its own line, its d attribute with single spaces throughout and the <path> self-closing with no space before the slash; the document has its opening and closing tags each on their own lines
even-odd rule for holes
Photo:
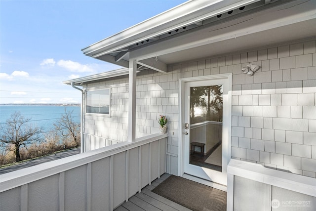
<svg viewBox="0 0 316 211">
<path fill-rule="evenodd" d="M 227 110 L 225 112 L 228 112 L 226 119 L 226 127 L 225 127 L 225 133 L 227 134 L 227 149 L 226 149 L 226 156 L 227 156 L 227 164 L 222 166 L 222 172 L 223 175 L 226 175 L 227 178 L 227 166 L 231 159 L 231 139 L 232 139 L 232 73 L 228 74 L 218 74 L 218 75 L 210 75 L 210 76 L 198 76 L 198 77 L 191 77 L 191 78 L 183 78 L 179 79 L 179 125 L 178 125 L 178 137 L 179 137 L 179 147 L 178 147 L 178 176 L 185 176 L 187 175 L 184 172 L 184 115 L 185 115 L 185 109 L 182 108 L 182 105 L 185 105 L 185 84 L 187 82 L 198 82 L 198 81 L 205 81 L 205 80 L 228 80 L 229 87 L 227 90 L 228 100 L 227 100 Z M 223 132 L 224 132 L 224 126 L 223 126 Z M 223 149 L 224 150 L 224 149 Z M 191 179 L 194 179 L 194 176 L 189 176 Z M 201 179 L 197 178 L 197 180 L 200 182 Z M 210 185 L 212 181 L 205 180 L 205 184 Z"/>
</svg>

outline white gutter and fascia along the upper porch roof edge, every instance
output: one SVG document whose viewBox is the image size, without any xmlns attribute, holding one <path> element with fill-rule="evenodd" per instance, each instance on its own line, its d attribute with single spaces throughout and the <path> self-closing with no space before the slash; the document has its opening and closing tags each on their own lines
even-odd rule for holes
<svg viewBox="0 0 316 211">
<path fill-rule="evenodd" d="M 191 0 L 83 48 L 82 51 L 85 55 L 99 57 L 256 1 L 259 0 Z"/>
</svg>

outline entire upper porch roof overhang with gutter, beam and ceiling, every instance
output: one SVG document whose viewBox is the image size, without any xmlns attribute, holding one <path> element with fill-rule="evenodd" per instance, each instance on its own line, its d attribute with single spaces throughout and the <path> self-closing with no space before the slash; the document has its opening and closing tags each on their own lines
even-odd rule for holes
<svg viewBox="0 0 316 211">
<path fill-rule="evenodd" d="M 85 55 L 166 72 L 168 64 L 315 37 L 313 0 L 191 0 L 96 42 Z"/>
</svg>

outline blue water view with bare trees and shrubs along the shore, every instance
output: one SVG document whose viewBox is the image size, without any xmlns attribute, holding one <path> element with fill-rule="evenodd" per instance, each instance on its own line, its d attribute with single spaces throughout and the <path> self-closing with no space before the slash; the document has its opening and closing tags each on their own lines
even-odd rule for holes
<svg viewBox="0 0 316 211">
<path fill-rule="evenodd" d="M 0 166 L 79 147 L 79 123 L 80 106 L 0 105 Z"/>
</svg>

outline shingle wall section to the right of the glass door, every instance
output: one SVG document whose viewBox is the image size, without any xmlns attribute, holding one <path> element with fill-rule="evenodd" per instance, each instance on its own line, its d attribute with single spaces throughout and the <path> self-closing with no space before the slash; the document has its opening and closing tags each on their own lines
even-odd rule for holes
<svg viewBox="0 0 316 211">
<path fill-rule="evenodd" d="M 232 157 L 315 177 L 316 42 L 256 52 L 254 76 L 232 72 Z"/>
</svg>

